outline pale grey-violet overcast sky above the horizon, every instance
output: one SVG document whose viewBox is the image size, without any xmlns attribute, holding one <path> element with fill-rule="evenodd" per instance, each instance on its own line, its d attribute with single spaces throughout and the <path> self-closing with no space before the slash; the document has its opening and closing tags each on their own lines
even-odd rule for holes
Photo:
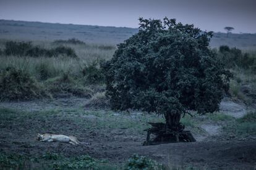
<svg viewBox="0 0 256 170">
<path fill-rule="evenodd" d="M 256 33 L 256 0 L 0 0 L 0 19 L 137 28 L 138 18 L 176 18 L 201 30 Z"/>
</svg>

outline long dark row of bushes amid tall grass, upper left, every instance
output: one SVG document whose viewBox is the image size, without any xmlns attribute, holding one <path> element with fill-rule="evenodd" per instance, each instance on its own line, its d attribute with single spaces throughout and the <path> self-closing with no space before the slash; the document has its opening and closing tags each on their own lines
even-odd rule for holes
<svg viewBox="0 0 256 170">
<path fill-rule="evenodd" d="M 77 57 L 75 51 L 70 47 L 59 46 L 53 49 L 44 49 L 40 46 L 33 46 L 31 42 L 7 41 L 4 49 L 5 55 L 18 55 L 29 57 L 57 57 L 66 55 L 67 57 Z"/>
</svg>

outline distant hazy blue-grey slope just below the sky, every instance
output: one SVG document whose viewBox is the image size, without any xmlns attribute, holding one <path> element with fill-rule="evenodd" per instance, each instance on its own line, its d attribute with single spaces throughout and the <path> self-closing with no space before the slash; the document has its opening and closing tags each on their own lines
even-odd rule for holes
<svg viewBox="0 0 256 170">
<path fill-rule="evenodd" d="M 77 38 L 85 42 L 117 44 L 137 33 L 135 28 L 114 26 L 72 25 L 59 23 L 22 22 L 0 20 L 0 39 L 53 41 Z M 17 31 L 19 30 L 19 31 Z M 211 47 L 228 45 L 246 51 L 256 50 L 256 34 L 215 33 Z"/>
</svg>

